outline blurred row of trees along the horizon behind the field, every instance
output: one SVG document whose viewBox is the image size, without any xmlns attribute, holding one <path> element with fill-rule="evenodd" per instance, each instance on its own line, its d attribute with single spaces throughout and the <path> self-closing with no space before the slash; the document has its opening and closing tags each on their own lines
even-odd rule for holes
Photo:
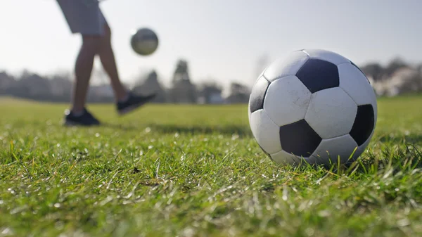
<svg viewBox="0 0 422 237">
<path fill-rule="evenodd" d="M 360 66 L 368 77 L 378 96 L 422 91 L 422 64 L 412 65 L 394 58 L 387 65 L 366 63 Z M 104 75 L 102 75 L 104 76 Z M 0 96 L 14 96 L 35 101 L 68 102 L 72 96 L 72 75 L 67 72 L 55 73 L 49 77 L 24 71 L 19 76 L 0 72 Z M 154 103 L 248 103 L 250 90 L 246 84 L 232 82 L 228 96 L 223 96 L 223 87 L 216 81 L 193 83 L 189 75 L 188 62 L 178 60 L 170 87 L 164 87 L 154 70 L 136 79 L 132 90 L 140 94 L 155 91 L 158 96 Z M 108 82 L 91 85 L 87 100 L 90 103 L 110 103 L 114 101 L 113 91 Z"/>
</svg>

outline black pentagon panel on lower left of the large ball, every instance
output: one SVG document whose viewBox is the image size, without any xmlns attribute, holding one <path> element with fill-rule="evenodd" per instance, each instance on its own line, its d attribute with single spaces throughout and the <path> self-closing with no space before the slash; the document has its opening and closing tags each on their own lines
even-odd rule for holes
<svg viewBox="0 0 422 237">
<path fill-rule="evenodd" d="M 305 120 L 280 127 L 281 148 L 287 153 L 307 158 L 321 141 L 321 137 Z"/>
</svg>

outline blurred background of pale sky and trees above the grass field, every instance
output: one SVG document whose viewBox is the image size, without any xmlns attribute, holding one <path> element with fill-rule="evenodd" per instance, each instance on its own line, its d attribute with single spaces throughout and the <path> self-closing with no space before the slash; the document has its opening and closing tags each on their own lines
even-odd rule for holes
<svg viewBox="0 0 422 237">
<path fill-rule="evenodd" d="M 349 58 L 378 96 L 422 91 L 422 1 L 107 0 L 120 76 L 159 91 L 155 103 L 247 103 L 260 72 L 290 51 L 319 48 Z M 55 0 L 1 0 L 0 96 L 68 102 L 81 44 Z M 131 30 L 160 39 L 152 56 L 129 44 Z M 114 101 L 101 64 L 88 101 Z"/>
</svg>

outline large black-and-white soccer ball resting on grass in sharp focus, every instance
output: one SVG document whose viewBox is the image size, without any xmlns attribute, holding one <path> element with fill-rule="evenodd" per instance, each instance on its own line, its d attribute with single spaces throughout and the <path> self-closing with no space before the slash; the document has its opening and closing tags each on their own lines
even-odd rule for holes
<svg viewBox="0 0 422 237">
<path fill-rule="evenodd" d="M 303 49 L 262 72 L 252 87 L 248 115 L 255 140 L 277 163 L 347 163 L 371 140 L 376 94 L 347 58 Z"/>
</svg>

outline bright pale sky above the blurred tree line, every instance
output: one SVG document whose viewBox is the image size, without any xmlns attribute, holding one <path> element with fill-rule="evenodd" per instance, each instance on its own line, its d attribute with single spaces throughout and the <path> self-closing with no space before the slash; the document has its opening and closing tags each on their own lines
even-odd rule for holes
<svg viewBox="0 0 422 237">
<path fill-rule="evenodd" d="M 169 82 L 185 58 L 193 82 L 251 84 L 260 56 L 274 60 L 303 48 L 335 51 L 357 64 L 395 56 L 422 62 L 420 0 L 107 0 L 101 8 L 125 82 L 152 68 Z M 0 0 L 0 25 L 0 70 L 72 70 L 80 38 L 55 0 Z M 157 32 L 153 56 L 132 52 L 136 27 Z"/>
</svg>

